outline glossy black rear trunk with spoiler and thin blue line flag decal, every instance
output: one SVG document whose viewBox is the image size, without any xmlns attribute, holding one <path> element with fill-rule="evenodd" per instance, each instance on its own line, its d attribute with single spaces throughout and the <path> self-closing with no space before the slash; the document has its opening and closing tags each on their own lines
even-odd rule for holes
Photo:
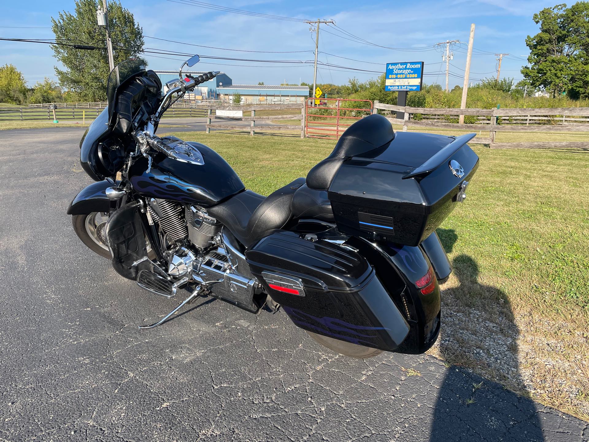
<svg viewBox="0 0 589 442">
<path fill-rule="evenodd" d="M 465 198 L 478 156 L 475 134 L 396 133 L 389 147 L 343 162 L 328 192 L 337 229 L 417 246 Z"/>
</svg>

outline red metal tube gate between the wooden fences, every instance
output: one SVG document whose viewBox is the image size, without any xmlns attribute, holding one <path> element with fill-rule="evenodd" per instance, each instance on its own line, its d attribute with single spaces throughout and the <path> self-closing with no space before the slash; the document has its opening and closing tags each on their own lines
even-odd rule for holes
<svg viewBox="0 0 589 442">
<path fill-rule="evenodd" d="M 319 101 L 319 104 L 315 104 Z M 342 105 L 342 103 L 345 103 Z M 366 105 L 368 107 L 353 107 Z M 372 101 L 352 98 L 307 98 L 305 136 L 339 138 L 356 120 L 372 113 Z"/>
</svg>

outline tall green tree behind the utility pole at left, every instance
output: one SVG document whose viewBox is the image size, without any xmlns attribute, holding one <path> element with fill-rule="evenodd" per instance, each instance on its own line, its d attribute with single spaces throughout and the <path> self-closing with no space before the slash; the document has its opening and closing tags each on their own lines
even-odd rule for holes
<svg viewBox="0 0 589 442">
<path fill-rule="evenodd" d="M 55 67 L 59 83 L 77 95 L 81 101 L 102 101 L 107 97 L 107 80 L 110 69 L 106 50 L 106 31 L 98 27 L 97 0 L 76 0 L 74 14 L 60 12 L 52 18 L 55 38 L 67 42 L 96 45 L 94 51 L 78 50 L 68 46 L 51 45 L 54 57 L 65 66 Z M 143 29 L 135 23 L 133 14 L 116 0 L 108 2 L 108 24 L 110 26 L 114 64 L 137 57 L 143 50 Z M 104 48 L 104 49 L 103 49 Z M 125 48 L 118 49 L 117 48 Z M 141 60 L 147 64 L 144 60 Z"/>
</svg>

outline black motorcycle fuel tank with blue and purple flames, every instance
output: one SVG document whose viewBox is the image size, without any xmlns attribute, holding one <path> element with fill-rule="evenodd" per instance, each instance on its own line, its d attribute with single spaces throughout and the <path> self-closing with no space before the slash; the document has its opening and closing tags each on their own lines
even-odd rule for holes
<svg viewBox="0 0 589 442">
<path fill-rule="evenodd" d="M 178 141 L 174 137 L 162 139 L 166 143 Z M 141 158 L 129 170 L 135 192 L 145 197 L 210 207 L 245 190 L 239 176 L 216 151 L 193 141 L 187 144 L 200 152 L 199 164 L 159 155 L 150 165 L 147 159 Z"/>
</svg>

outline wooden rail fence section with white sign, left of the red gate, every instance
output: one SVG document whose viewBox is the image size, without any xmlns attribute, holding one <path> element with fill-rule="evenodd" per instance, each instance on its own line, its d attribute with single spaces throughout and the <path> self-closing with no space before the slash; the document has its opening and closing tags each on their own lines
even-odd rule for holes
<svg viewBox="0 0 589 442">
<path fill-rule="evenodd" d="M 250 111 L 251 116 L 244 117 L 223 117 L 217 116 L 213 111 L 217 110 L 241 110 Z M 292 110 L 293 114 L 288 115 L 272 115 L 272 116 L 256 116 L 256 111 L 266 110 Z M 295 113 L 295 110 L 297 113 Z M 250 121 L 250 126 L 238 126 L 236 124 L 212 124 L 212 120 L 224 120 L 224 121 Z M 292 120 L 300 121 L 299 124 L 280 124 L 273 126 L 280 130 L 300 130 L 300 137 L 305 137 L 305 106 L 300 103 L 293 104 L 254 104 L 254 105 L 209 105 L 207 107 L 207 134 L 210 133 L 211 128 L 214 129 L 231 129 L 231 130 L 244 130 L 249 131 L 250 135 L 256 134 L 256 121 L 260 120 Z M 267 127 L 266 127 L 267 128 Z"/>
</svg>

